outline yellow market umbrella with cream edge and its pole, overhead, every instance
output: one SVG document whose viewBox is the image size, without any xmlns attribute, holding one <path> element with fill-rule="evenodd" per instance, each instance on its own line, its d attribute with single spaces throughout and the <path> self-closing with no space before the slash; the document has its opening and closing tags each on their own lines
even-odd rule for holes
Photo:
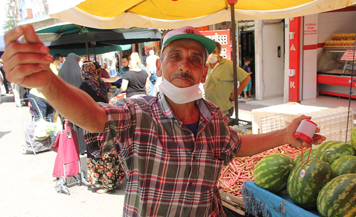
<svg viewBox="0 0 356 217">
<path fill-rule="evenodd" d="M 263 20 L 299 17 L 344 8 L 356 0 L 49 0 L 49 16 L 94 28 L 145 27 L 175 29 L 206 26 L 224 21 Z M 231 5 L 231 6 L 230 6 Z M 230 8 L 230 10 L 228 10 Z M 232 39 L 232 61 L 236 64 L 236 42 Z M 234 67 L 234 84 L 237 83 Z M 236 93 L 234 87 L 234 93 Z M 234 95 L 238 118 L 238 95 Z"/>
</svg>

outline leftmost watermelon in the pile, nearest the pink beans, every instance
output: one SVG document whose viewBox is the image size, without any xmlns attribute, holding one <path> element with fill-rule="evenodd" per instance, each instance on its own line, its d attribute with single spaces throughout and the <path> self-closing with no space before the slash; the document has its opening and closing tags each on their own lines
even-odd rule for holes
<svg viewBox="0 0 356 217">
<path fill-rule="evenodd" d="M 284 154 L 276 153 L 262 158 L 254 170 L 256 185 L 273 193 L 285 190 L 293 166 L 293 159 Z"/>
</svg>

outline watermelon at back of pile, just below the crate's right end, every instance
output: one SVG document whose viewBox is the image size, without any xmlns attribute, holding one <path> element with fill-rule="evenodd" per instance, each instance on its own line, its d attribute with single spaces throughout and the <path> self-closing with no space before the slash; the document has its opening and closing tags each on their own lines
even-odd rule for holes
<svg viewBox="0 0 356 217">
<path fill-rule="evenodd" d="M 315 149 L 325 153 L 329 159 L 329 164 L 332 164 L 332 162 L 342 156 L 356 155 L 353 147 L 344 141 L 325 141 Z"/>
</svg>

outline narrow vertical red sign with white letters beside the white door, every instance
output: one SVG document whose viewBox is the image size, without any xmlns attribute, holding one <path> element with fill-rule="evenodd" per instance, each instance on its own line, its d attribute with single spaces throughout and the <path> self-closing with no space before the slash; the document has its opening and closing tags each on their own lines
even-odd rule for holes
<svg viewBox="0 0 356 217">
<path fill-rule="evenodd" d="M 301 17 L 289 19 L 289 102 L 299 103 L 301 66 Z"/>
</svg>

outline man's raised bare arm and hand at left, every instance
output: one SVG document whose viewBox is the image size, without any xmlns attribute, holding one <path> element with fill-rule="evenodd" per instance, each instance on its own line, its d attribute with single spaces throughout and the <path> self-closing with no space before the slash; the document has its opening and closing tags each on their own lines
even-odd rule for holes
<svg viewBox="0 0 356 217">
<path fill-rule="evenodd" d="M 24 35 L 27 43 L 17 39 Z M 5 36 L 2 56 L 6 78 L 26 88 L 37 88 L 53 108 L 64 117 L 90 132 L 103 132 L 104 109 L 88 94 L 55 76 L 49 63 L 49 49 L 39 40 L 31 25 L 18 26 Z"/>
</svg>

